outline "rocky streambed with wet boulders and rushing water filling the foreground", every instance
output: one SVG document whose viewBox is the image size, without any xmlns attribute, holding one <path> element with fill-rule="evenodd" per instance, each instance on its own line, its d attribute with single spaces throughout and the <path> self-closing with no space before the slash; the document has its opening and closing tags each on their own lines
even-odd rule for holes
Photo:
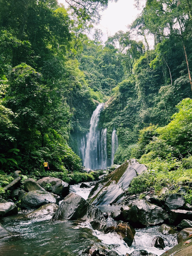
<svg viewBox="0 0 192 256">
<path fill-rule="evenodd" d="M 9 189 L 21 200 L 23 210 L 17 214 L 11 200 L 1 200 L 0 254 L 191 255 L 192 211 L 180 195 L 172 195 L 162 207 L 149 197 L 127 201 L 130 177 L 144 171 L 146 166 L 132 160 L 102 177 L 96 186 L 69 187 L 45 177 L 27 179 L 25 190 L 19 188 L 21 179 L 16 177 Z"/>
</svg>

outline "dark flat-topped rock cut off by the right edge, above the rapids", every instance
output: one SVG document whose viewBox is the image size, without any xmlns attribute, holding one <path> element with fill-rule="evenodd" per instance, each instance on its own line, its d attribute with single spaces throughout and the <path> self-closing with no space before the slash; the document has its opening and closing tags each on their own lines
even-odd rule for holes
<svg viewBox="0 0 192 256">
<path fill-rule="evenodd" d="M 192 211 L 170 210 L 169 222 L 178 225 L 182 220 L 192 221 Z"/>
</svg>

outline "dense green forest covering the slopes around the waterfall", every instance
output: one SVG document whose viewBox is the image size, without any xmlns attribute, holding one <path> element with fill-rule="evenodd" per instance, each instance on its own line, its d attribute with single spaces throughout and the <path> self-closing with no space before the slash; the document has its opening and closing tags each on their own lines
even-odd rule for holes
<svg viewBox="0 0 192 256">
<path fill-rule="evenodd" d="M 99 29 L 87 34 L 108 1 L 67 2 L 66 10 L 56 0 L 0 0 L 2 185 L 16 169 L 41 177 L 45 160 L 65 181 L 92 178 L 81 173 L 75 134 L 88 131 L 99 102 L 109 156 L 117 130 L 114 163 L 140 159 L 158 181 L 141 179 L 157 190 L 192 181 L 191 2 L 147 0 L 128 31 L 105 43 Z"/>
</svg>

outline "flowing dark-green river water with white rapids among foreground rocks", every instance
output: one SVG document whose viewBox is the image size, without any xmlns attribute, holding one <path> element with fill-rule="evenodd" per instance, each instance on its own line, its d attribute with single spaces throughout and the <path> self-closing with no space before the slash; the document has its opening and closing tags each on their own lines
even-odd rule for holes
<svg viewBox="0 0 192 256">
<path fill-rule="evenodd" d="M 79 188 L 79 184 L 71 187 L 76 190 L 77 194 L 87 199 L 90 188 Z M 102 206 L 100 209 L 103 212 L 108 212 L 110 207 Z M 44 219 L 29 220 L 22 218 L 22 215 L 23 213 L 2 219 L 1 223 L 12 233 L 12 236 L 0 239 L 0 255 L 77 256 L 88 246 L 93 245 L 107 248 L 109 251 L 116 251 L 119 255 L 131 253 L 137 249 L 145 249 L 148 252 L 161 255 L 177 244 L 176 236 L 162 235 L 158 232 L 158 226 L 136 229 L 136 245 L 129 248 L 116 233 L 104 234 L 93 230 L 88 223 L 50 221 L 50 216 Z M 109 226 L 115 224 L 110 217 L 107 222 Z M 164 239 L 166 245 L 164 250 L 151 247 L 152 239 L 157 235 Z"/>
</svg>

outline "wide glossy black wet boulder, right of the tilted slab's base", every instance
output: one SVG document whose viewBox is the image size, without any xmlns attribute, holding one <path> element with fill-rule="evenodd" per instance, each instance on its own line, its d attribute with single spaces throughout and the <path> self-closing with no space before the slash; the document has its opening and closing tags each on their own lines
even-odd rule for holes
<svg viewBox="0 0 192 256">
<path fill-rule="evenodd" d="M 163 223 L 168 218 L 168 214 L 161 207 L 140 199 L 122 208 L 122 218 L 131 224 L 149 226 Z"/>
</svg>

